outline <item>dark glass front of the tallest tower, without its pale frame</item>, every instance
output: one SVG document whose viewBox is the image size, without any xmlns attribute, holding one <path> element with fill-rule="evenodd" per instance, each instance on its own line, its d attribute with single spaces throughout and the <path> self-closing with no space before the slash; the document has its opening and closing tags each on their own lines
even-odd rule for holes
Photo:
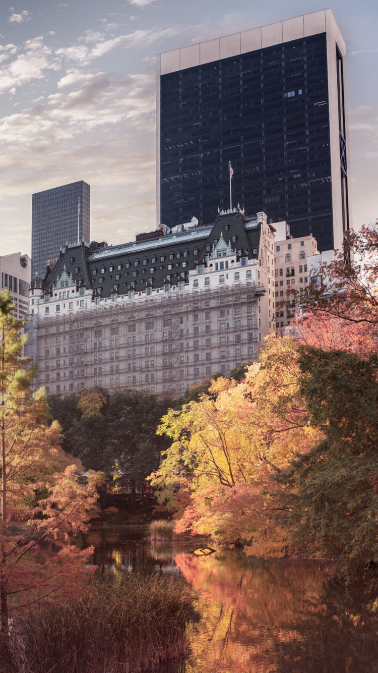
<svg viewBox="0 0 378 673">
<path fill-rule="evenodd" d="M 333 247 L 326 33 L 161 75 L 161 219 L 233 205 Z"/>
</svg>

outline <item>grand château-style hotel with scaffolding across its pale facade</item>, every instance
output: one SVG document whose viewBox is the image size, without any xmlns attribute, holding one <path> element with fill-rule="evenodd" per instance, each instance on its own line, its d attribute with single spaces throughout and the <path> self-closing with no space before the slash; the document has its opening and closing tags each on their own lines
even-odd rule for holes
<svg viewBox="0 0 378 673">
<path fill-rule="evenodd" d="M 32 280 L 28 355 L 50 393 L 177 395 L 256 359 L 274 328 L 274 229 L 234 209 L 124 245 L 66 246 Z"/>
</svg>

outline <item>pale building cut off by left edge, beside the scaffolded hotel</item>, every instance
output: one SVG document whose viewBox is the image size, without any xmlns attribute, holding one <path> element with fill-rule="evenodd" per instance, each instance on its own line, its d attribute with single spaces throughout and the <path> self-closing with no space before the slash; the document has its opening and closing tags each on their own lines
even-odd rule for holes
<svg viewBox="0 0 378 673">
<path fill-rule="evenodd" d="M 13 318 L 26 320 L 29 314 L 29 283 L 32 260 L 27 254 L 13 252 L 0 256 L 1 291 L 7 287 L 15 305 Z"/>
</svg>

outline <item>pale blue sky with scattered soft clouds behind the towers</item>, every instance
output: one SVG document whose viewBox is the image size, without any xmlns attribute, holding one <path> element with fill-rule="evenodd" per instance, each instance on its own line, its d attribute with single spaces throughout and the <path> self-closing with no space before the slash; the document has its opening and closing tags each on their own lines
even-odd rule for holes
<svg viewBox="0 0 378 673">
<path fill-rule="evenodd" d="M 85 180 L 91 238 L 156 226 L 155 55 L 324 9 L 319 0 L 0 2 L 0 255 L 30 254 L 32 194 Z M 335 0 L 355 228 L 378 217 L 378 3 Z M 256 205 L 256 210 L 259 206 Z"/>
</svg>

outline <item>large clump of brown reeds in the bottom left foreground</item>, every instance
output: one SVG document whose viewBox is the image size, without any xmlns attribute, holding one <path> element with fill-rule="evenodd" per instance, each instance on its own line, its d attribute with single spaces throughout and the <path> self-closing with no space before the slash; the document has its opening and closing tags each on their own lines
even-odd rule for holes
<svg viewBox="0 0 378 673">
<path fill-rule="evenodd" d="M 17 618 L 0 671 L 152 673 L 174 661 L 180 667 L 191 615 L 192 596 L 181 583 L 140 575 L 122 583 L 95 579 L 81 596 Z"/>
</svg>

